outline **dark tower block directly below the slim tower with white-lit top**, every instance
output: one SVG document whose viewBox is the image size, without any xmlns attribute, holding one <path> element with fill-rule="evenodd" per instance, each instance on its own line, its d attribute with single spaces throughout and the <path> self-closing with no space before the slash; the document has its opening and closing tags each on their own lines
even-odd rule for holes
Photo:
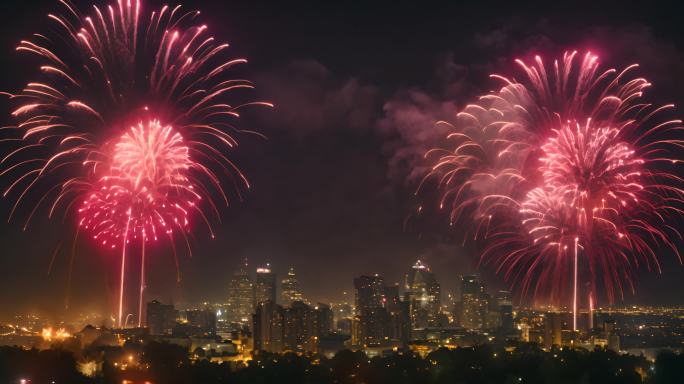
<svg viewBox="0 0 684 384">
<path fill-rule="evenodd" d="M 252 315 L 254 350 L 282 352 L 283 323 L 283 307 L 274 301 L 259 304 Z"/>
</svg>

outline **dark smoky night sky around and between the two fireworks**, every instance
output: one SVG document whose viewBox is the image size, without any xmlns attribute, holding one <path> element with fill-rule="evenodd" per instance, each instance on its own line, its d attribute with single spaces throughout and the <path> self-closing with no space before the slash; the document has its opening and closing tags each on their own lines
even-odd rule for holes
<svg viewBox="0 0 684 384">
<path fill-rule="evenodd" d="M 194 233 L 193 257 L 180 252 L 180 283 L 169 250 L 150 253 L 148 294 L 165 301 L 225 300 L 245 257 L 252 265 L 270 261 L 281 275 L 294 266 L 313 300 L 339 298 L 362 273 L 401 281 L 418 257 L 453 292 L 460 274 L 476 270 L 477 252 L 457 246 L 439 224 L 412 220 L 419 154 L 438 143 L 432 123 L 491 90 L 488 74 L 511 73 L 514 58 L 591 49 L 605 66 L 639 62 L 654 83 L 652 100 L 684 105 L 684 24 L 676 2 L 184 4 L 202 10 L 235 56 L 249 58 L 241 73 L 276 108 L 244 116 L 242 127 L 268 136 L 245 136 L 232 154 L 253 188 L 223 211 L 215 240 Z M 16 90 L 33 73 L 14 47 L 44 30 L 46 14 L 57 8 L 56 0 L 2 0 L 1 90 Z M 2 101 L 9 122 L 7 110 Z M 9 204 L 1 203 L 5 217 Z M 20 220 L 0 226 L 0 314 L 63 310 L 73 224 L 38 221 L 26 232 Z M 684 268 L 661 253 L 663 274 L 643 271 L 627 302 L 684 304 Z M 117 254 L 78 244 L 72 311 L 113 308 L 116 263 Z M 503 287 L 488 270 L 481 273 L 492 290 Z"/>
</svg>

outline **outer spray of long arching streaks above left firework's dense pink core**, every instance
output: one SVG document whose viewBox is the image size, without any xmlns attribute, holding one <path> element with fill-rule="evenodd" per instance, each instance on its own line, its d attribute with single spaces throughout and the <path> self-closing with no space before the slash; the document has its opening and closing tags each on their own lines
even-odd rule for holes
<svg viewBox="0 0 684 384">
<path fill-rule="evenodd" d="M 17 47 L 45 63 L 40 80 L 9 94 L 18 120 L 5 129 L 16 148 L 2 159 L 3 175 L 12 180 L 4 194 L 16 199 L 11 215 L 26 199 L 37 202 L 27 224 L 41 206 L 50 216 L 60 207 L 68 212 L 108 161 L 106 143 L 145 120 L 183 136 L 189 156 L 203 164 L 194 168 L 203 174 L 198 190 L 217 190 L 227 204 L 222 180 L 248 187 L 225 153 L 238 145 L 235 134 L 247 132 L 234 126 L 240 110 L 270 104 L 239 102 L 237 92 L 253 84 L 229 73 L 246 60 L 227 58 L 228 44 L 193 24 L 199 11 L 178 5 L 146 14 L 139 1 L 119 0 L 93 5 L 88 16 L 60 2 L 63 14 L 48 16 L 61 33 L 36 34 Z"/>
</svg>

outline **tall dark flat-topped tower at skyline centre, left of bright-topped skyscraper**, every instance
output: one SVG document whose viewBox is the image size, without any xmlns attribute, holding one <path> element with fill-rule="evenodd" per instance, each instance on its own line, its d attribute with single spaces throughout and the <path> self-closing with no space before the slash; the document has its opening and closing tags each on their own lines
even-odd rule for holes
<svg viewBox="0 0 684 384">
<path fill-rule="evenodd" d="M 385 284 L 382 277 L 360 276 L 354 279 L 356 290 L 356 314 L 359 320 L 359 334 L 352 337 L 357 345 L 377 344 L 388 338 L 388 313 L 384 307 Z"/>
</svg>

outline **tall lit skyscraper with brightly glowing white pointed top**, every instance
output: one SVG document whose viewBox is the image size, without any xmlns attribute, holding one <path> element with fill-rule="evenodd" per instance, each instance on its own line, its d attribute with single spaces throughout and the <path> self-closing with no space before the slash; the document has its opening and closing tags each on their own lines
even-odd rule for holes
<svg viewBox="0 0 684 384">
<path fill-rule="evenodd" d="M 437 277 L 430 268 L 417 260 L 405 276 L 404 288 L 406 300 L 410 304 L 413 327 L 436 325 L 441 290 Z"/>
</svg>

